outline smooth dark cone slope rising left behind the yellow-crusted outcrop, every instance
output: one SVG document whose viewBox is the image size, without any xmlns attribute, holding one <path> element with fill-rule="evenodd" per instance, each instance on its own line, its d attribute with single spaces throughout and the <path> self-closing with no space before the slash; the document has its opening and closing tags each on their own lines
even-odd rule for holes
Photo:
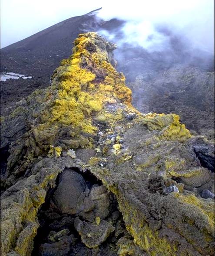
<svg viewBox="0 0 215 256">
<path fill-rule="evenodd" d="M 97 26 L 95 14 L 72 17 L 1 50 L 1 71 L 50 77 L 68 58 L 77 34 Z"/>
</svg>

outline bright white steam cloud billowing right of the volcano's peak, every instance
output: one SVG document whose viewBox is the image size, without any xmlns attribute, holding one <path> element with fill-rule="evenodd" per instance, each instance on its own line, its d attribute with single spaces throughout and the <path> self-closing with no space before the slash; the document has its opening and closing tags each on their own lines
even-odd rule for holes
<svg viewBox="0 0 215 256">
<path fill-rule="evenodd" d="M 160 31 L 160 27 L 165 27 L 188 41 L 190 48 L 200 48 L 212 54 L 213 9 L 212 0 L 152 0 L 142 1 L 141 6 L 134 0 L 132 4 L 128 2 L 122 5 L 118 2 L 112 9 L 111 5 L 106 4 L 97 16 L 103 20 L 126 20 L 121 28 L 123 37 L 117 40 L 118 44 L 133 43 L 148 51 L 165 49 L 169 47 L 169 40 Z M 106 36 L 116 40 L 112 33 Z"/>
</svg>

